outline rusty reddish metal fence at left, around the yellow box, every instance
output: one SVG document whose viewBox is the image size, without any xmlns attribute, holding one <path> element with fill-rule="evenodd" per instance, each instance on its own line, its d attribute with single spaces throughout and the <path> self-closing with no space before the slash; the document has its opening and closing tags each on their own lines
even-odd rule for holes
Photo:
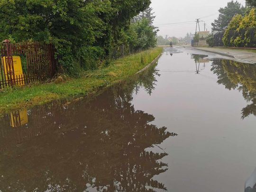
<svg viewBox="0 0 256 192">
<path fill-rule="evenodd" d="M 5 40 L 0 45 L 0 89 L 52 78 L 57 71 L 54 55 L 51 44 Z"/>
</svg>

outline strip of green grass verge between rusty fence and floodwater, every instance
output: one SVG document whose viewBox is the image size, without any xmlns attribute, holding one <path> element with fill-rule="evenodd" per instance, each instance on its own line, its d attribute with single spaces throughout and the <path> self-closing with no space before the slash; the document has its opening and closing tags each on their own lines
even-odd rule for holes
<svg viewBox="0 0 256 192">
<path fill-rule="evenodd" d="M 97 92 L 136 74 L 151 63 L 163 48 L 156 47 L 114 60 L 110 66 L 84 72 L 79 78 L 64 83 L 33 84 L 0 92 L 0 114 L 11 110 L 41 105 L 55 99 L 81 97 Z"/>
</svg>

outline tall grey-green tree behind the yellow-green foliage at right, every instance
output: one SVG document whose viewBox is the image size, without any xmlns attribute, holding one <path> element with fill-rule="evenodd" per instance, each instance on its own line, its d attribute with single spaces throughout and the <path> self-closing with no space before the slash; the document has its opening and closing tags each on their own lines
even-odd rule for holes
<svg viewBox="0 0 256 192">
<path fill-rule="evenodd" d="M 212 25 L 213 31 L 224 32 L 228 27 L 231 19 L 237 15 L 243 15 L 245 12 L 245 8 L 241 6 L 238 1 L 230 1 L 225 8 L 219 9 L 219 17 L 215 19 Z"/>
</svg>

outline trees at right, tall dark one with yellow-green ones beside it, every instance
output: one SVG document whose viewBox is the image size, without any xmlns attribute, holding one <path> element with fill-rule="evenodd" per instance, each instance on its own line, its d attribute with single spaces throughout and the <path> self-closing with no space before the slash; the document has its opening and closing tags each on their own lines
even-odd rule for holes
<svg viewBox="0 0 256 192">
<path fill-rule="evenodd" d="M 219 17 L 212 23 L 214 35 L 208 38 L 210 46 L 255 47 L 255 0 L 247 0 L 247 7 L 230 1 L 219 9 Z"/>
</svg>

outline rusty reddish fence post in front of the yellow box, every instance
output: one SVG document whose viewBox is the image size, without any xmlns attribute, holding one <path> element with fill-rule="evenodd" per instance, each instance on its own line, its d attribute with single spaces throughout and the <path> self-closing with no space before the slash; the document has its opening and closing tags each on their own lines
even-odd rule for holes
<svg viewBox="0 0 256 192">
<path fill-rule="evenodd" d="M 4 57 L 5 63 L 3 65 L 6 70 L 4 70 L 4 75 L 7 77 L 9 86 L 15 85 L 15 74 L 14 74 L 14 66 L 13 66 L 13 59 L 12 59 L 12 50 L 11 50 L 11 43 L 8 39 L 4 40 Z"/>
</svg>

